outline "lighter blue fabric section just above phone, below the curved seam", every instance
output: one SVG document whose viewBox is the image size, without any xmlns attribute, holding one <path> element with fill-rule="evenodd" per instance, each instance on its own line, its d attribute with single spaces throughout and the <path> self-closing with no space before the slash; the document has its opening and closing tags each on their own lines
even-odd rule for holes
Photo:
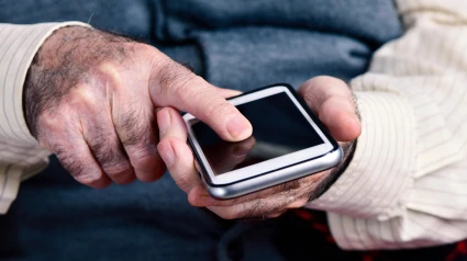
<svg viewBox="0 0 467 261">
<path fill-rule="evenodd" d="M 252 90 L 276 82 L 298 88 L 319 75 L 349 80 L 367 67 L 371 50 L 346 36 L 275 27 L 201 33 L 204 76 L 218 86 Z"/>
</svg>

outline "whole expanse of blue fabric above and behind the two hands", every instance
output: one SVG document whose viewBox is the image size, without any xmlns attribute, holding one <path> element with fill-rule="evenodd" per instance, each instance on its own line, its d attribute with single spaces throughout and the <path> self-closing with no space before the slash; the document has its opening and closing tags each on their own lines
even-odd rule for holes
<svg viewBox="0 0 467 261">
<path fill-rule="evenodd" d="M 143 38 L 210 82 L 242 90 L 283 81 L 298 88 L 318 75 L 349 80 L 401 33 L 390 0 L 0 0 L 0 22 L 78 20 Z"/>
</svg>

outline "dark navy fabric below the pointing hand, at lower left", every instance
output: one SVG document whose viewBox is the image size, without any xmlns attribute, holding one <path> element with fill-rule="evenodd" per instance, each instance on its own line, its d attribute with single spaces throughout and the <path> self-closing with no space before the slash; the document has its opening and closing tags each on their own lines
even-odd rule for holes
<svg viewBox="0 0 467 261">
<path fill-rule="evenodd" d="M 169 175 L 92 190 L 53 158 L 0 216 L 0 260 L 207 260 L 229 226 L 190 207 Z"/>
</svg>

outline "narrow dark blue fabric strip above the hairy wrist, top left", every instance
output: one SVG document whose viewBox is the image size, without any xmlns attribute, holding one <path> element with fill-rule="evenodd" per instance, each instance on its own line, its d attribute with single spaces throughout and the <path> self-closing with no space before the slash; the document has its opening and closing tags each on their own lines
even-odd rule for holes
<svg viewBox="0 0 467 261">
<path fill-rule="evenodd" d="M 151 0 L 0 0 L 0 23 L 81 21 L 97 27 L 149 38 Z"/>
</svg>

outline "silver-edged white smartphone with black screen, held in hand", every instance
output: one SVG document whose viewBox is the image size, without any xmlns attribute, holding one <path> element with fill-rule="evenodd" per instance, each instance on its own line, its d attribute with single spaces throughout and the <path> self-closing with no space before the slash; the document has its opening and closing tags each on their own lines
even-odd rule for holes
<svg viewBox="0 0 467 261">
<path fill-rule="evenodd" d="M 253 134 L 231 143 L 184 115 L 196 167 L 209 193 L 229 200 L 303 178 L 342 160 L 342 149 L 296 90 L 264 87 L 227 100 L 251 122 Z"/>
</svg>

